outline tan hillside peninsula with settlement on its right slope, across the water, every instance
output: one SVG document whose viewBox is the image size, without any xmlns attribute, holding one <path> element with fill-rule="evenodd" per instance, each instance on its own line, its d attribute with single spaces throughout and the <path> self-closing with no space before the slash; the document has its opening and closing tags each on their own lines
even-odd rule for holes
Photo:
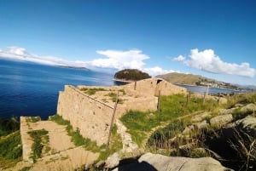
<svg viewBox="0 0 256 171">
<path fill-rule="evenodd" d="M 170 83 L 176 84 L 188 84 L 188 85 L 195 85 L 195 86 L 209 86 L 211 88 L 227 88 L 227 89 L 234 89 L 234 90 L 241 90 L 246 88 L 241 88 L 239 85 L 234 85 L 231 83 L 224 83 L 212 78 L 202 77 L 200 75 L 193 75 L 193 74 L 183 74 L 172 72 L 164 75 L 158 75 L 156 77 L 160 77 L 165 79 Z"/>
</svg>

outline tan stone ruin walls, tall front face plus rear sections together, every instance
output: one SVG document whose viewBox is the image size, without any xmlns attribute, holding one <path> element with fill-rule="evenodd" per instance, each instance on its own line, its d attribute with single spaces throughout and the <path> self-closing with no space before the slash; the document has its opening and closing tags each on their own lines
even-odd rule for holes
<svg viewBox="0 0 256 171">
<path fill-rule="evenodd" d="M 119 88 L 124 88 L 127 94 L 139 95 L 119 104 L 115 118 L 121 117 L 129 110 L 156 111 L 158 101 L 156 95 L 158 95 L 159 89 L 161 95 L 186 93 L 185 88 L 158 80 L 151 78 L 137 82 L 136 90 L 134 90 L 134 83 L 120 86 Z M 78 128 L 84 137 L 95 140 L 97 145 L 107 143 L 113 105 L 93 99 L 90 95 L 79 91 L 79 88 L 66 85 L 65 90 L 59 94 L 57 113 L 63 119 L 70 121 L 74 129 Z"/>
</svg>

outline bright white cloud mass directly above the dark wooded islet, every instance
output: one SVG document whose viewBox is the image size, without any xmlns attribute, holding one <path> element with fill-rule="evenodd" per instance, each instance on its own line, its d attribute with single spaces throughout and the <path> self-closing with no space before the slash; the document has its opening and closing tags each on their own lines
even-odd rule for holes
<svg viewBox="0 0 256 171">
<path fill-rule="evenodd" d="M 118 70 L 125 68 L 142 69 L 145 63 L 143 60 L 148 60 L 147 54 L 143 54 L 141 50 L 97 50 L 97 54 L 102 54 L 107 58 L 100 58 L 90 61 L 91 66 L 115 68 Z"/>
</svg>

